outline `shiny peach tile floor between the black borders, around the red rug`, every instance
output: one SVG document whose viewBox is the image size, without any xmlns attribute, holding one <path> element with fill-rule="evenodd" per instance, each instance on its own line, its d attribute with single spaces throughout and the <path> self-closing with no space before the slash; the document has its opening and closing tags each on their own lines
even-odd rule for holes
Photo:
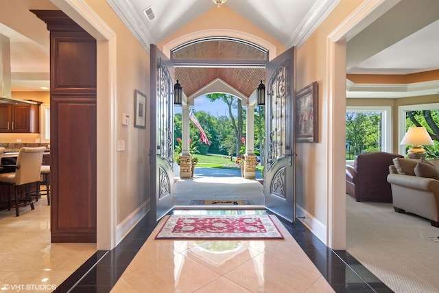
<svg viewBox="0 0 439 293">
<path fill-rule="evenodd" d="M 206 213 L 219 211 L 191 212 Z M 242 213 L 254 211 L 233 214 Z M 158 224 L 112 292 L 144 292 L 145 288 L 149 292 L 333 292 L 275 216 L 273 221 L 284 239 L 154 239 L 165 220 Z"/>
</svg>

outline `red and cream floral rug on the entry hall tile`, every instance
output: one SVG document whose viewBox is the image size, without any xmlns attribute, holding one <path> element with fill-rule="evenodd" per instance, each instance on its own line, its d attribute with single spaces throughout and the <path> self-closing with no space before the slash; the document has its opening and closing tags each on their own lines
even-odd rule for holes
<svg viewBox="0 0 439 293">
<path fill-rule="evenodd" d="M 283 239 L 270 215 L 170 215 L 156 239 Z"/>
</svg>

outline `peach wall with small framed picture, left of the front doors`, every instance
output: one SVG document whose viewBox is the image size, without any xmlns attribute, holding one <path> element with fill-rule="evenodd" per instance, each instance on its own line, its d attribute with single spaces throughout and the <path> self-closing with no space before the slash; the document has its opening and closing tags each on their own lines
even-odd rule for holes
<svg viewBox="0 0 439 293">
<path fill-rule="evenodd" d="M 117 35 L 117 105 L 114 119 L 117 121 L 116 139 L 125 141 L 125 151 L 117 152 L 116 163 L 117 224 L 121 224 L 145 202 L 149 207 L 150 128 L 148 125 L 145 129 L 134 128 L 134 90 L 147 95 L 146 113 L 150 117 L 150 55 L 105 0 L 86 2 Z M 122 113 L 130 115 L 128 126 L 121 125 Z"/>
</svg>

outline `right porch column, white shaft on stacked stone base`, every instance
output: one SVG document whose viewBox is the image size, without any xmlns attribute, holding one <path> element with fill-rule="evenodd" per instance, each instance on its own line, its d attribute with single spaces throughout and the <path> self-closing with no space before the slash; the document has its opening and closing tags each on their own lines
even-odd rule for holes
<svg viewBox="0 0 439 293">
<path fill-rule="evenodd" d="M 246 161 L 244 178 L 256 178 L 256 155 L 254 154 L 254 105 L 247 106 Z"/>
</svg>

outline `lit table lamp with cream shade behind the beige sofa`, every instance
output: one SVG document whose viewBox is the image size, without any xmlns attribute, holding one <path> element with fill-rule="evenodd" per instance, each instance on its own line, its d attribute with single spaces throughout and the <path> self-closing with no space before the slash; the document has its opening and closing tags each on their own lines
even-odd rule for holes
<svg viewBox="0 0 439 293">
<path fill-rule="evenodd" d="M 407 154 L 409 159 L 425 158 L 426 152 L 420 145 L 432 145 L 433 140 L 425 127 L 411 127 L 405 133 L 401 145 L 414 145 Z"/>
</svg>

